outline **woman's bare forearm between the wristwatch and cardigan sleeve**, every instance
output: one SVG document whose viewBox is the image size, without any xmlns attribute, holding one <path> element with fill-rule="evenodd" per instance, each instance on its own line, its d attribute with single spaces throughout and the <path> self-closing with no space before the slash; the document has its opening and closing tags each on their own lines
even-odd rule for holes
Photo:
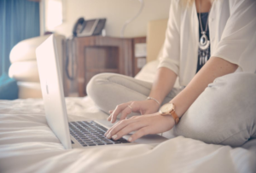
<svg viewBox="0 0 256 173">
<path fill-rule="evenodd" d="M 215 78 L 235 72 L 237 67 L 236 64 L 232 64 L 224 59 L 211 57 L 188 86 L 170 101 L 176 106 L 175 112 L 177 116 L 181 117 Z"/>
</svg>

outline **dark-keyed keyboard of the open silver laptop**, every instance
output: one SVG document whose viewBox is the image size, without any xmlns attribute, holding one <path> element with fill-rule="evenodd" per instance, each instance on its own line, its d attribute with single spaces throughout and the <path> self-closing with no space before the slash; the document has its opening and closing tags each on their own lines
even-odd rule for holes
<svg viewBox="0 0 256 173">
<path fill-rule="evenodd" d="M 108 129 L 100 124 L 96 124 L 94 121 L 77 121 L 68 124 L 70 134 L 79 141 L 83 147 L 129 143 L 129 141 L 126 141 L 124 138 L 120 138 L 117 141 L 108 139 L 104 136 Z"/>
</svg>

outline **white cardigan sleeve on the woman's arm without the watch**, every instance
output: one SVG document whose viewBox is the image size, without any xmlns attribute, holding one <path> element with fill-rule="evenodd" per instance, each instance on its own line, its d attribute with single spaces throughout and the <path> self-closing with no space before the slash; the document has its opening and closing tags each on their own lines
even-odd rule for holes
<svg viewBox="0 0 256 173">
<path fill-rule="evenodd" d="M 179 2 L 171 1 L 169 20 L 166 29 L 166 39 L 163 46 L 163 52 L 160 56 L 158 68 L 166 67 L 178 75 L 179 56 L 180 56 L 180 13 Z"/>
</svg>

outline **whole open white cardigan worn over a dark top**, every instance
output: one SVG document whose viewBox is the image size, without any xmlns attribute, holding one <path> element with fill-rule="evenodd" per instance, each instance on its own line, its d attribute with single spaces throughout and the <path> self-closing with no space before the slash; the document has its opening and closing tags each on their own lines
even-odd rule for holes
<svg viewBox="0 0 256 173">
<path fill-rule="evenodd" d="M 237 64 L 236 72 L 256 72 L 256 0 L 215 0 L 209 14 L 211 56 Z M 158 67 L 177 73 L 181 86 L 195 76 L 199 21 L 193 5 L 171 0 L 166 40 Z"/>
</svg>

